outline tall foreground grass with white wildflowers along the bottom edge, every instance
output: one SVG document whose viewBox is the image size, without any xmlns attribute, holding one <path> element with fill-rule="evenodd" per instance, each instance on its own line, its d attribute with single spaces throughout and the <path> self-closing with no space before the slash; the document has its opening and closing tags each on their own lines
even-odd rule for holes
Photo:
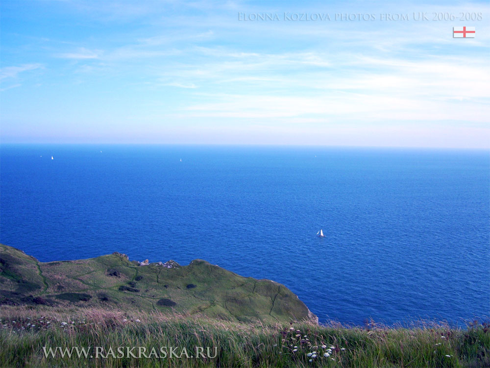
<svg viewBox="0 0 490 368">
<path fill-rule="evenodd" d="M 96 308 L 1 307 L 1 367 L 489 367 L 490 325 L 467 329 L 421 324 L 344 328 L 311 323 L 262 324 Z M 73 349 L 46 356 L 43 346 Z M 94 357 L 96 346 L 103 348 Z M 159 358 L 176 347 L 177 357 Z M 196 346 L 205 355 L 196 355 Z M 77 356 L 75 347 L 88 349 Z M 113 354 L 109 348 L 113 349 Z M 144 354 L 120 357 L 118 347 Z M 206 354 L 210 347 L 210 354 Z M 215 356 L 215 350 L 216 356 Z M 183 354 L 183 349 L 187 354 Z M 48 350 L 49 352 L 49 350 Z M 93 355 L 90 358 L 90 355 Z M 189 357 L 187 357 L 189 355 Z"/>
</svg>

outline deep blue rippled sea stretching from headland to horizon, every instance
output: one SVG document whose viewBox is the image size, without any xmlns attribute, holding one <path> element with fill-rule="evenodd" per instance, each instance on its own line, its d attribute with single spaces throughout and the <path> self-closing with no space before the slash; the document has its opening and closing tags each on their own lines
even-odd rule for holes
<svg viewBox="0 0 490 368">
<path fill-rule="evenodd" d="M 320 321 L 490 315 L 488 151 L 2 145 L 0 165 L 0 241 L 40 261 L 200 258 Z"/>
</svg>

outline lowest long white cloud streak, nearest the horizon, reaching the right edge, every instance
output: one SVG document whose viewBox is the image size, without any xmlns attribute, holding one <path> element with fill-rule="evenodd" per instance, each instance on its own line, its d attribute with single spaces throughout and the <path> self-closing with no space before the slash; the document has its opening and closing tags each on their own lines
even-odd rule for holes
<svg viewBox="0 0 490 368">
<path fill-rule="evenodd" d="M 468 110 L 471 113 L 468 114 Z M 420 101 L 388 95 L 336 93 L 316 97 L 268 95 L 227 95 L 221 102 L 191 105 L 181 116 L 225 118 L 316 117 L 323 121 L 380 123 L 400 121 L 458 121 L 486 124 L 490 107 L 475 103 L 461 105 L 448 101 Z M 295 120 L 301 122 L 301 120 Z"/>
</svg>

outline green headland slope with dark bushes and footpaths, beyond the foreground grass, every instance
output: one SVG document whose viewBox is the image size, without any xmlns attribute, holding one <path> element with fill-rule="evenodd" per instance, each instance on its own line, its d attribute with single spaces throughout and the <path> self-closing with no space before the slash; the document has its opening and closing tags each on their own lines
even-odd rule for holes
<svg viewBox="0 0 490 368">
<path fill-rule="evenodd" d="M 139 265 L 112 255 L 38 262 L 0 245 L 0 304 L 95 307 L 199 314 L 235 321 L 316 317 L 281 284 L 245 278 L 202 260 Z"/>
</svg>

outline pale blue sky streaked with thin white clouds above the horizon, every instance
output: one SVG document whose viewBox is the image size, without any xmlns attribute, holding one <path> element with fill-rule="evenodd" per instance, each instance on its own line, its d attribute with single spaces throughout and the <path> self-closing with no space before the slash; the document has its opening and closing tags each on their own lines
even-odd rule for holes
<svg viewBox="0 0 490 368">
<path fill-rule="evenodd" d="M 489 17 L 488 2 L 2 0 L 1 141 L 489 148 Z"/>
</svg>

